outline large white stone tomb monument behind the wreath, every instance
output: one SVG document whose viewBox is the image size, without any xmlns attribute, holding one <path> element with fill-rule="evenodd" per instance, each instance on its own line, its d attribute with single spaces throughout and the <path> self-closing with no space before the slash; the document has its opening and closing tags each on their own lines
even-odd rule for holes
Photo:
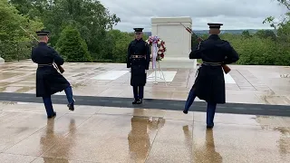
<svg viewBox="0 0 290 163">
<path fill-rule="evenodd" d="M 189 16 L 184 17 L 153 17 L 151 18 L 151 35 L 162 39 L 167 51 L 160 61 L 162 68 L 196 68 L 197 60 L 189 60 L 191 50 L 191 34 L 183 25 L 192 27 Z"/>
</svg>

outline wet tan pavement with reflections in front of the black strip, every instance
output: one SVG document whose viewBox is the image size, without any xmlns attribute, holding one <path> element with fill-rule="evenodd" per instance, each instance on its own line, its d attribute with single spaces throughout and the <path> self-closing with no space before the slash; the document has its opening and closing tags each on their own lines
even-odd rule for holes
<svg viewBox="0 0 290 163">
<path fill-rule="evenodd" d="M 290 118 L 54 104 L 0 104 L 0 162 L 289 162 Z"/>
</svg>

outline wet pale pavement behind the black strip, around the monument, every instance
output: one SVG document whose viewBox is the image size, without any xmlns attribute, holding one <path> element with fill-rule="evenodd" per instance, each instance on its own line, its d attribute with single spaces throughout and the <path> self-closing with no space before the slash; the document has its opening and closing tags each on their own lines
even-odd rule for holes
<svg viewBox="0 0 290 163">
<path fill-rule="evenodd" d="M 227 82 L 227 102 L 290 104 L 290 69 L 283 66 L 231 65 Z M 121 63 L 65 63 L 63 75 L 73 84 L 75 95 L 132 97 L 130 72 Z M 35 93 L 36 65 L 31 61 L 0 65 L 0 92 Z M 164 82 L 148 79 L 145 98 L 186 100 L 196 70 L 163 69 Z M 152 71 L 148 72 L 150 76 Z M 158 75 L 157 75 L 158 76 Z M 63 94 L 60 92 L 58 94 Z"/>
</svg>

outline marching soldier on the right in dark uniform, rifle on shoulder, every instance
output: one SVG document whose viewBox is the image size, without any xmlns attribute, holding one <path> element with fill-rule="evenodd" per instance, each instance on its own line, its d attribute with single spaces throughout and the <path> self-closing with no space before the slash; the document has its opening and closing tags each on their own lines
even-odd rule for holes
<svg viewBox="0 0 290 163">
<path fill-rule="evenodd" d="M 189 97 L 183 112 L 188 113 L 189 107 L 198 96 L 200 100 L 208 102 L 207 127 L 214 127 L 214 117 L 217 103 L 226 103 L 226 89 L 222 64 L 237 62 L 239 57 L 234 48 L 227 41 L 221 40 L 220 26 L 223 24 L 208 24 L 207 40 L 193 47 L 189 59 L 201 59 L 197 79 L 189 91 Z"/>
</svg>

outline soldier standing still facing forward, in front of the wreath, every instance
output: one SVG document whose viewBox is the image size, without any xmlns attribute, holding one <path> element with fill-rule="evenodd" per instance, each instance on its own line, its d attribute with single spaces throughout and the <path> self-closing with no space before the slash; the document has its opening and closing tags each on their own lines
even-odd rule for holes
<svg viewBox="0 0 290 163">
<path fill-rule="evenodd" d="M 128 46 L 127 68 L 131 68 L 131 86 L 133 87 L 133 104 L 141 104 L 144 96 L 144 86 L 147 70 L 150 64 L 150 46 L 142 39 L 144 28 L 134 28 L 135 40 Z"/>
</svg>

